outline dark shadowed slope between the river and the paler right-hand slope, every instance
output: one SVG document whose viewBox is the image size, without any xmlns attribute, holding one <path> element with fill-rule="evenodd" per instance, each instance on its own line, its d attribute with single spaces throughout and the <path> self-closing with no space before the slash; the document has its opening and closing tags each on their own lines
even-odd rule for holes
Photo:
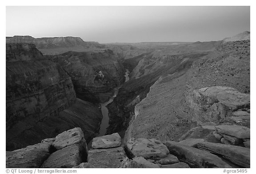
<svg viewBox="0 0 256 174">
<path fill-rule="evenodd" d="M 149 88 L 161 75 L 173 73 L 182 75 L 195 59 L 207 54 L 207 52 L 184 54 L 177 59 L 170 59 L 165 66 L 157 68 L 149 74 L 125 82 L 117 97 L 108 105 L 110 113 L 108 134 L 125 130 L 128 127 L 129 121 L 134 115 L 135 105 L 146 97 Z"/>
</svg>

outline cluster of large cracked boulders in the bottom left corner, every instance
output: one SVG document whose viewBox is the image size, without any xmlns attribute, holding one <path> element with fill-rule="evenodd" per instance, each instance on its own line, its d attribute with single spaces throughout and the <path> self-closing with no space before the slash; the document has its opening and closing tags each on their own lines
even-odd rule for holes
<svg viewBox="0 0 256 174">
<path fill-rule="evenodd" d="M 55 140 L 54 140 L 55 139 Z M 88 150 L 81 128 L 26 148 L 7 151 L 7 168 L 72 168 L 86 162 Z"/>
</svg>

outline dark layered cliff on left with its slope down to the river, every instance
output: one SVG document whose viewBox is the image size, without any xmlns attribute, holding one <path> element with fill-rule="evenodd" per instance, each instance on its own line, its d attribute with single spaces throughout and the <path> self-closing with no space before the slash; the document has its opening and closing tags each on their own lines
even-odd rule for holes
<svg viewBox="0 0 256 174">
<path fill-rule="evenodd" d="M 7 150 L 40 142 L 75 125 L 89 132 L 89 140 L 101 117 L 98 107 L 76 99 L 70 76 L 35 45 L 6 44 Z"/>
</svg>

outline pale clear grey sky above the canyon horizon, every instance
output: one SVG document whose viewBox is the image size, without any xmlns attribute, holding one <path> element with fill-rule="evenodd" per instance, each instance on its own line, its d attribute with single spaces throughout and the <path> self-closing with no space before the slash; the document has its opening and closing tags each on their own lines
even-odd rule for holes
<svg viewBox="0 0 256 174">
<path fill-rule="evenodd" d="M 250 6 L 7 6 L 6 36 L 196 42 L 250 31 Z"/>
</svg>

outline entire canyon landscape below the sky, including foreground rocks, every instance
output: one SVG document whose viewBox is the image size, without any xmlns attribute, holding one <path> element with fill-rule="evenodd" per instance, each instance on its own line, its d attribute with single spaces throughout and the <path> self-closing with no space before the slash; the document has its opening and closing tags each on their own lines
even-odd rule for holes
<svg viewBox="0 0 256 174">
<path fill-rule="evenodd" d="M 8 168 L 250 168 L 250 32 L 6 40 Z"/>
</svg>

